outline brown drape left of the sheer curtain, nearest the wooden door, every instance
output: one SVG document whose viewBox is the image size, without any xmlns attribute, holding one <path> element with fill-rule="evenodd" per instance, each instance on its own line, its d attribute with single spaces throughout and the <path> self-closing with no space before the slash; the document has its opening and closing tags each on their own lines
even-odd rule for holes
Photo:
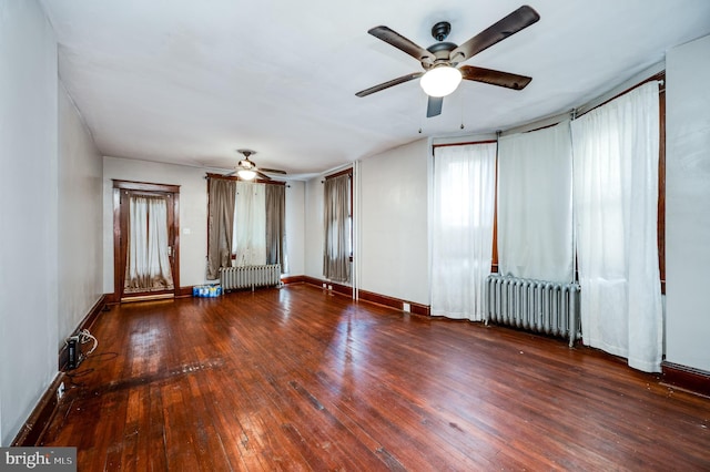
<svg viewBox="0 0 710 472">
<path fill-rule="evenodd" d="M 214 280 L 220 278 L 220 267 L 232 265 L 236 182 L 225 178 L 209 182 L 207 279 Z"/>
</svg>

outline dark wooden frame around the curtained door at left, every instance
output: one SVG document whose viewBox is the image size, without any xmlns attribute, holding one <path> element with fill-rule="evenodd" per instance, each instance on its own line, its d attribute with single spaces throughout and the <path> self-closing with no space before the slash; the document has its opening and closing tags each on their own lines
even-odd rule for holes
<svg viewBox="0 0 710 472">
<path fill-rule="evenodd" d="M 121 246 L 121 192 L 136 191 L 156 194 L 171 194 L 173 198 L 173 234 L 172 269 L 173 295 L 180 289 L 180 185 L 151 184 L 146 182 L 121 181 L 113 178 L 113 298 L 120 302 L 123 296 L 125 255 Z"/>
</svg>

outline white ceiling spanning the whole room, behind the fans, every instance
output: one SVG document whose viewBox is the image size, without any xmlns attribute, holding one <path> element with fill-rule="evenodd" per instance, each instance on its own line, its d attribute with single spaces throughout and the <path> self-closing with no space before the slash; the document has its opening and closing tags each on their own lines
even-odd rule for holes
<svg viewBox="0 0 710 472">
<path fill-rule="evenodd" d="M 530 0 L 540 21 L 466 65 L 532 76 L 524 91 L 465 81 L 426 119 L 422 70 L 367 34 L 457 44 L 519 0 L 41 0 L 61 80 L 103 155 L 231 170 L 318 173 L 424 136 L 506 130 L 568 111 L 710 33 L 708 0 Z M 462 122 L 465 130 L 460 130 Z M 422 133 L 419 133 L 419 129 Z"/>
</svg>

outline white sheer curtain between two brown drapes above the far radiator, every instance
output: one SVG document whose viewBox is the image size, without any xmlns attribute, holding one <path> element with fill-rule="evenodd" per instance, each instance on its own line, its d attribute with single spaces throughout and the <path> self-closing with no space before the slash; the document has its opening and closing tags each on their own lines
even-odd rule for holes
<svg viewBox="0 0 710 472">
<path fill-rule="evenodd" d="M 266 191 L 264 184 L 236 183 L 233 247 L 236 266 L 266 264 Z"/>
</svg>

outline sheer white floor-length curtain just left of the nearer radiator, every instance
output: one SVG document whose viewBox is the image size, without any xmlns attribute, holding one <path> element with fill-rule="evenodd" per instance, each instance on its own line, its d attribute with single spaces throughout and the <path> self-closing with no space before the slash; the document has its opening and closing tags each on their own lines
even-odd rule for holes
<svg viewBox="0 0 710 472">
<path fill-rule="evenodd" d="M 432 314 L 479 321 L 493 259 L 496 144 L 436 147 Z"/>
</svg>

